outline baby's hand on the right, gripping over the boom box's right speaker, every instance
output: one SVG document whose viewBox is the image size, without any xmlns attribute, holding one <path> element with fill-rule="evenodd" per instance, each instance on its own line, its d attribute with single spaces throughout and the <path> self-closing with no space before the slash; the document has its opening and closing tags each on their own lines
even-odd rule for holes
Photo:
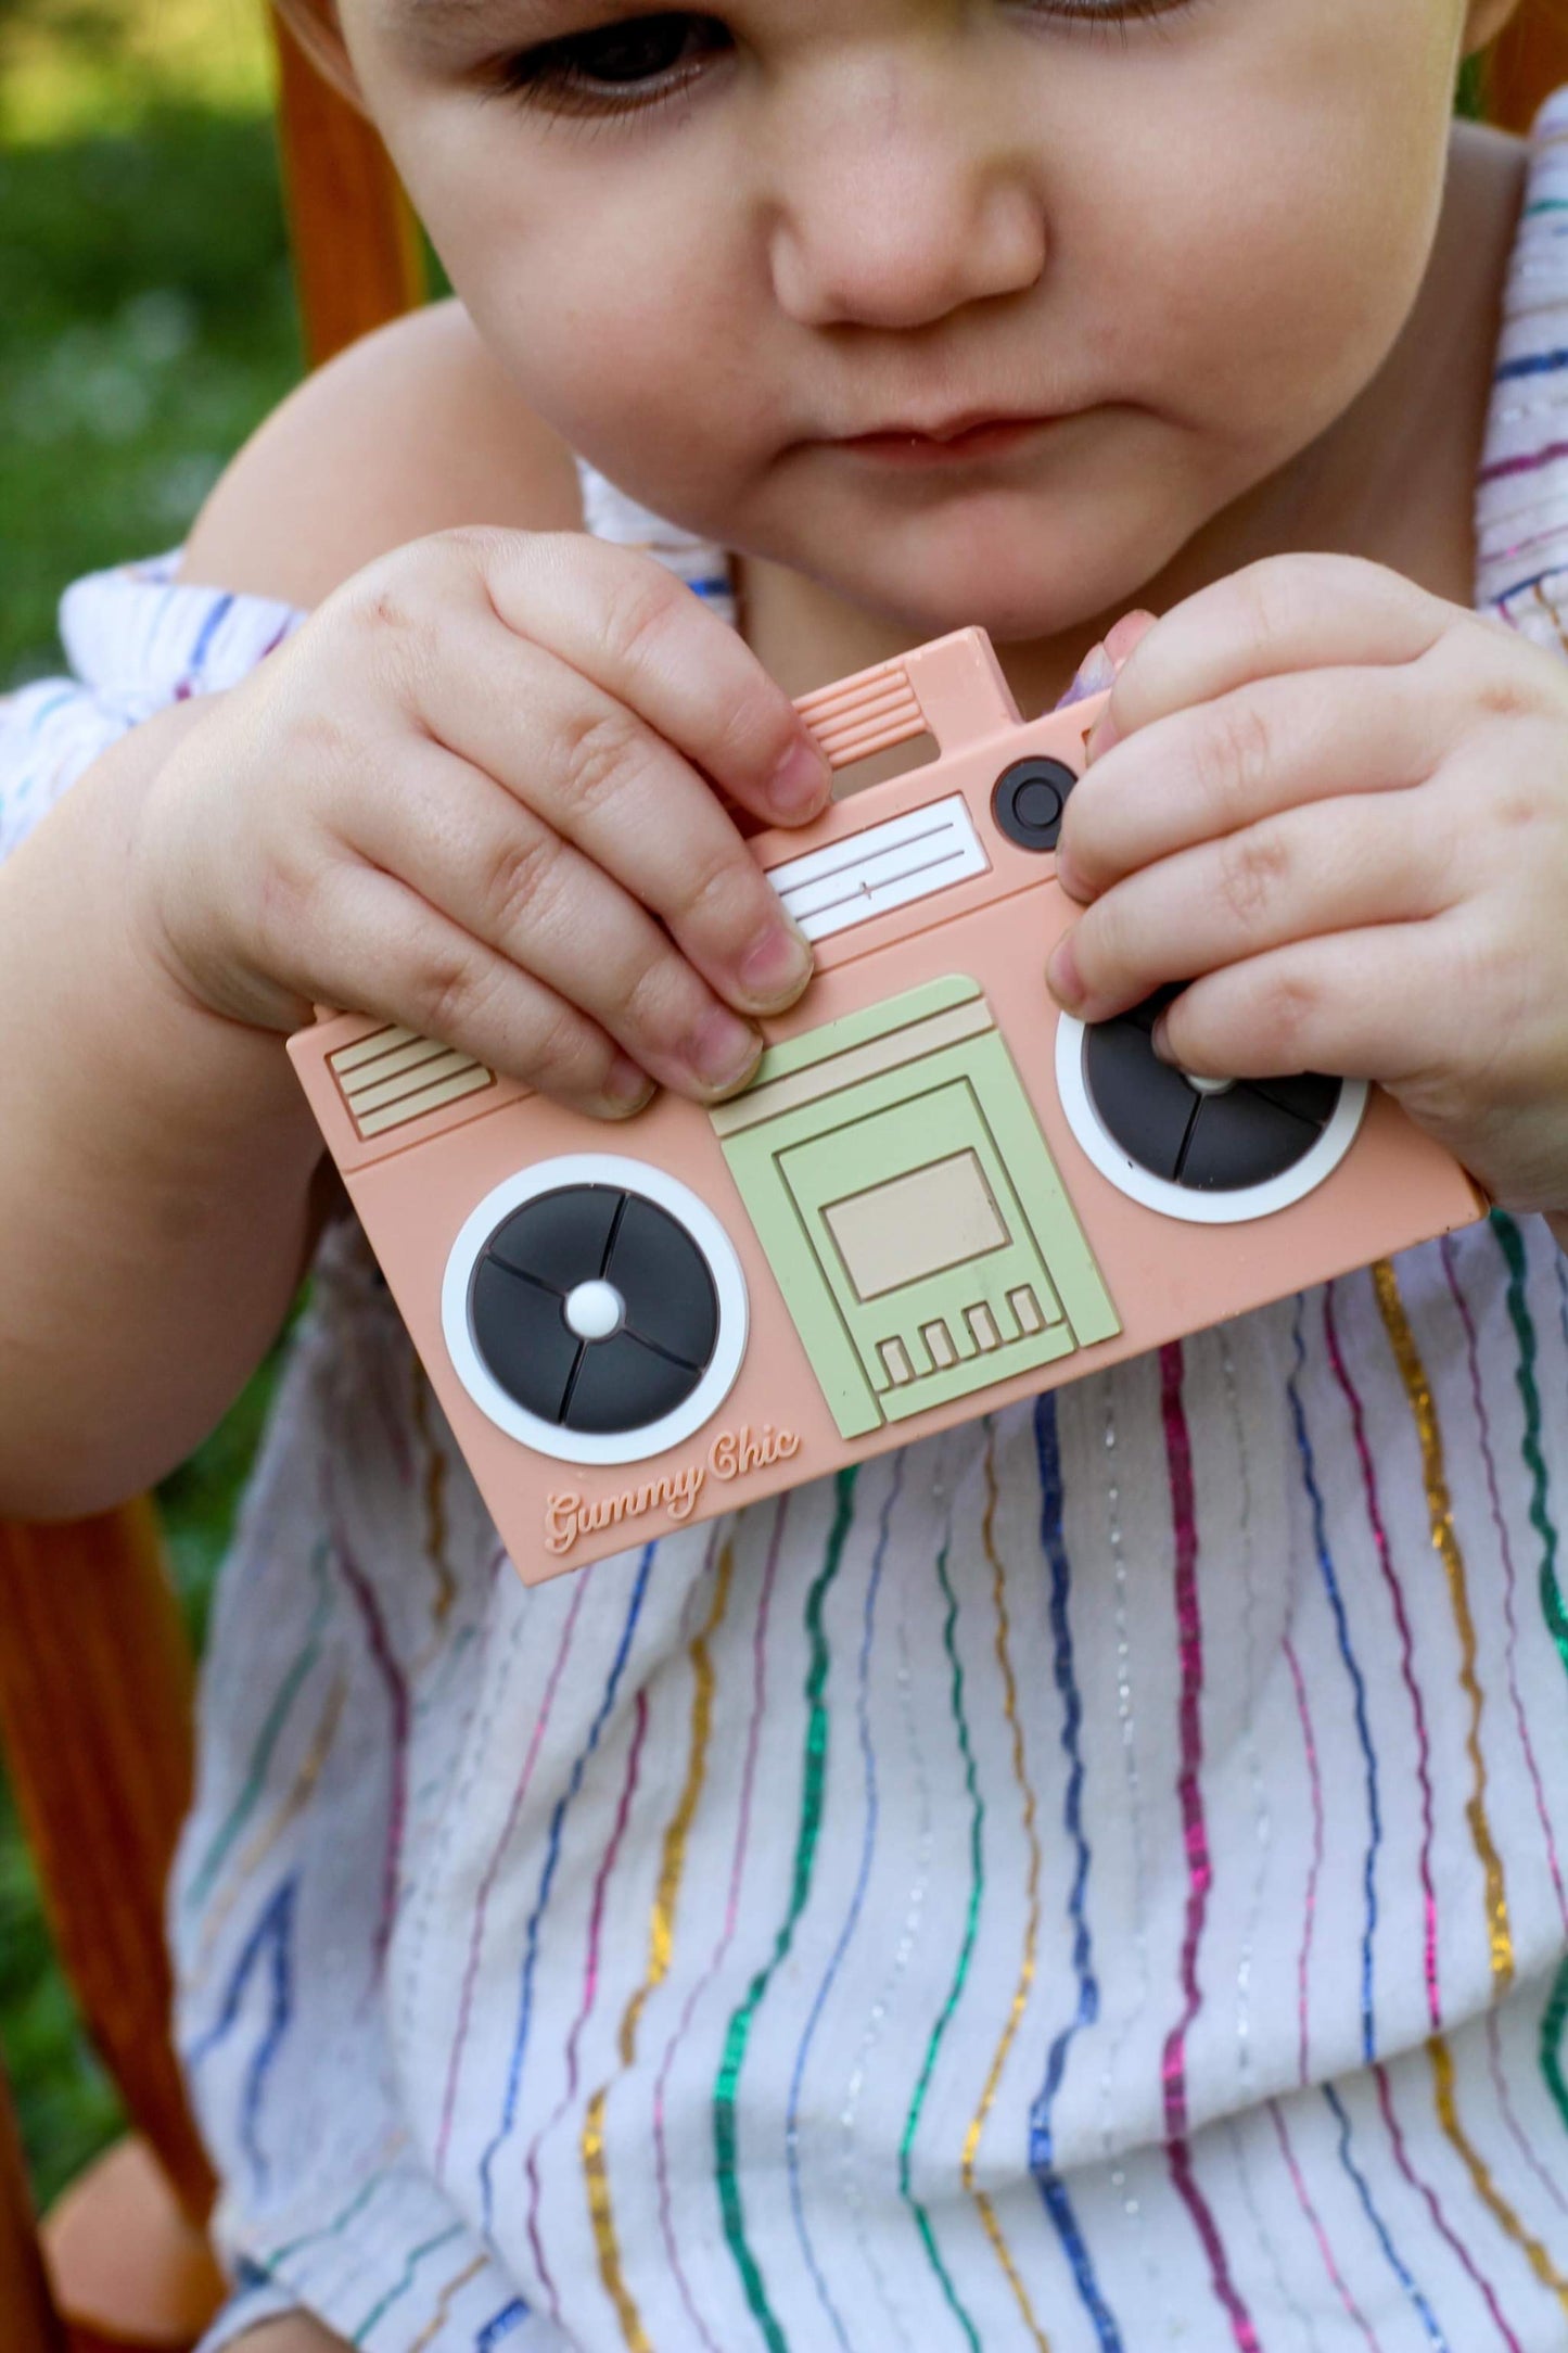
<svg viewBox="0 0 1568 2353">
<path fill-rule="evenodd" d="M 1389 1087 L 1512 1209 L 1568 1205 L 1568 664 L 1396 572 L 1286 555 L 1157 621 L 1067 807 L 1088 1021 L 1206 1078 Z"/>
</svg>

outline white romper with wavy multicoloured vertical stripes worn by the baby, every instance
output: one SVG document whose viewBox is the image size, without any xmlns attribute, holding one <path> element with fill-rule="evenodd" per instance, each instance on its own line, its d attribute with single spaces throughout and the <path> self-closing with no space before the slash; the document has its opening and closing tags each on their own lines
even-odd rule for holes
<svg viewBox="0 0 1568 2353">
<path fill-rule="evenodd" d="M 1566 214 L 1568 94 L 1479 482 L 1554 647 Z M 68 591 L 0 845 L 299 624 L 172 567 Z M 524 1591 L 331 1231 L 169 1911 L 207 2353 L 1563 2353 L 1566 1527 L 1568 1261 L 1495 1214 Z"/>
</svg>

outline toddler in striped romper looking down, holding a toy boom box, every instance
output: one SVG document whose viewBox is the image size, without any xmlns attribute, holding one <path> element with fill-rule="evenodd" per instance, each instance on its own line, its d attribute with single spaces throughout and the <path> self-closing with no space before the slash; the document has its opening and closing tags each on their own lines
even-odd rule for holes
<svg viewBox="0 0 1568 2353">
<path fill-rule="evenodd" d="M 1509 0 L 292 9 L 456 301 L 0 727 L 0 1508 L 313 1268 L 172 1892 L 207 2353 L 1561 2353 L 1568 99 L 1450 122 Z M 284 1033 L 715 1101 L 790 699 L 966 624 L 1114 680 L 1041 1014 L 1185 981 L 1497 1209 L 527 1591 Z"/>
</svg>

